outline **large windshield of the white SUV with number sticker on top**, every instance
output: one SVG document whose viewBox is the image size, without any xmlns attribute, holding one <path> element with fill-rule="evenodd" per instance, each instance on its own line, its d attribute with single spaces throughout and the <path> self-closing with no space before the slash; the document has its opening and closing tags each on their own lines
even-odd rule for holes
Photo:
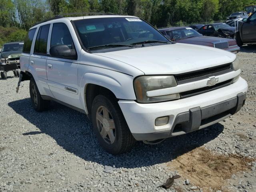
<svg viewBox="0 0 256 192">
<path fill-rule="evenodd" d="M 155 28 L 139 18 L 93 18 L 74 21 L 78 35 L 86 49 L 129 46 L 136 43 L 169 41 Z"/>
</svg>

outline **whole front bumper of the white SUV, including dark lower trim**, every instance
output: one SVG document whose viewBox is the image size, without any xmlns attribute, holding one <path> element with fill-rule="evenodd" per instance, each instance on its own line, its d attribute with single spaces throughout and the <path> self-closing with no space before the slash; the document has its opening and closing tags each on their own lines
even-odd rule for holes
<svg viewBox="0 0 256 192">
<path fill-rule="evenodd" d="M 120 100 L 118 103 L 136 140 L 157 140 L 199 130 L 235 114 L 246 98 L 248 85 L 235 83 L 196 96 L 152 104 Z M 168 124 L 155 126 L 155 119 L 169 116 Z"/>
</svg>

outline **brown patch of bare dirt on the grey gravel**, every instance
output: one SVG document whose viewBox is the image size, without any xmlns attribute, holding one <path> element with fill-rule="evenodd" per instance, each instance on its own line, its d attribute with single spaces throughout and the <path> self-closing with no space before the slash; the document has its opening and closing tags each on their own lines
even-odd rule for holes
<svg viewBox="0 0 256 192">
<path fill-rule="evenodd" d="M 213 154 L 205 148 L 196 148 L 178 156 L 167 166 L 179 170 L 179 174 L 190 179 L 190 182 L 208 192 L 211 189 L 224 190 L 226 179 L 232 174 L 249 168 L 247 165 L 254 159 L 243 158 L 237 155 Z"/>
</svg>

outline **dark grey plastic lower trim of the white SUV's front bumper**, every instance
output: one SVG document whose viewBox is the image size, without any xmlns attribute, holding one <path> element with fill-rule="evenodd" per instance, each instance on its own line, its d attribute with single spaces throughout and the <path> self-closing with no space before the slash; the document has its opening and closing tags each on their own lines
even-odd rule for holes
<svg viewBox="0 0 256 192">
<path fill-rule="evenodd" d="M 206 106 L 191 108 L 188 112 L 178 114 L 171 130 L 155 133 L 133 133 L 136 140 L 153 141 L 193 132 L 220 122 L 238 112 L 246 100 L 246 93 Z"/>
</svg>

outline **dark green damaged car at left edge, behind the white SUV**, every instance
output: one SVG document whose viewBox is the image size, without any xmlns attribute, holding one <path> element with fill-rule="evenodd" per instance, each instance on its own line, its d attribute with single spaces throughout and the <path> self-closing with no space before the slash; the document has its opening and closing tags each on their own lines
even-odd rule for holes
<svg viewBox="0 0 256 192">
<path fill-rule="evenodd" d="M 3 45 L 0 60 L 3 64 L 17 64 L 20 67 L 20 55 L 24 42 L 8 42 Z"/>
</svg>

